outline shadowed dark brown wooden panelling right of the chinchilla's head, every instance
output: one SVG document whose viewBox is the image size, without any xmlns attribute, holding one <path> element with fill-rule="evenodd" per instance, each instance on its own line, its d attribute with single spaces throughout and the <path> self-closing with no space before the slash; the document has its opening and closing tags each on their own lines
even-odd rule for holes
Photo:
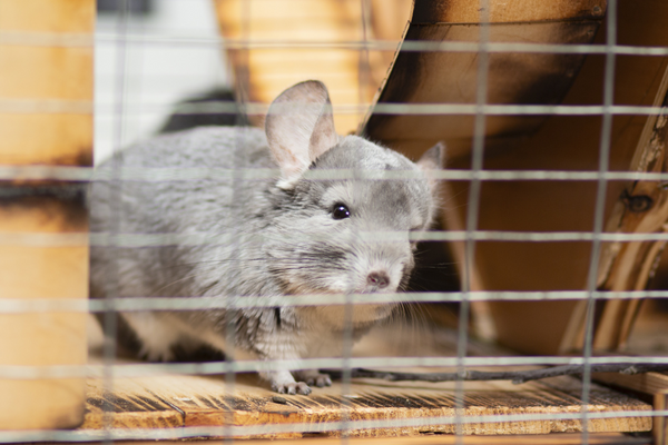
<svg viewBox="0 0 668 445">
<path fill-rule="evenodd" d="M 503 3 L 503 4 L 501 4 Z M 601 23 L 606 4 L 595 1 L 491 2 L 493 42 L 605 43 Z M 576 6 L 576 3 L 578 3 Z M 478 42 L 478 16 L 464 1 L 424 1 L 415 8 L 407 38 Z M 536 8 L 531 8 L 534 6 Z M 666 4 L 620 1 L 619 44 L 666 46 L 668 32 L 659 19 Z M 550 18 L 542 21 L 539 18 Z M 511 18 L 514 18 L 511 20 Z M 517 20 L 515 20 L 517 19 Z M 593 40 L 596 38 L 596 40 Z M 605 58 L 564 55 L 490 55 L 488 103 L 600 105 Z M 615 103 L 651 106 L 668 60 L 618 56 Z M 465 52 L 400 52 L 380 96 L 380 103 L 475 103 L 478 58 Z M 616 116 L 611 170 L 628 170 L 646 116 Z M 366 132 L 414 158 L 438 140 L 449 147 L 450 168 L 470 168 L 473 117 L 465 115 L 387 116 L 367 118 Z M 597 170 L 601 118 L 598 116 L 488 116 L 484 169 Z M 606 217 L 627 184 L 610 182 Z M 465 220 L 469 184 L 452 182 L 446 220 Z M 482 230 L 589 231 L 593 228 L 596 184 L 576 181 L 485 181 L 482 185 Z M 475 286 L 489 290 L 570 290 L 586 287 L 590 243 L 478 243 Z M 458 263 L 463 264 L 462 249 Z M 642 287 L 642 284 L 635 284 Z M 525 353 L 553 354 L 574 344 L 569 320 L 577 305 L 562 303 L 490 304 L 499 338 Z M 625 322 L 626 324 L 626 322 Z M 550 328 L 546 328 L 549 326 Z M 628 332 L 627 328 L 623 329 Z M 570 333 L 570 334 L 569 334 Z M 570 339 L 567 340 L 567 337 Z M 577 345 L 576 345 L 577 346 Z"/>
</svg>

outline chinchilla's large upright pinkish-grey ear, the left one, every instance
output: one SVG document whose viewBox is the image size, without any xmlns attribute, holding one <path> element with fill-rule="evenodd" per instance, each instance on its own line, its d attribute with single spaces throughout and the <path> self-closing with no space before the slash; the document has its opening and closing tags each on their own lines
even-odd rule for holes
<svg viewBox="0 0 668 445">
<path fill-rule="evenodd" d="M 324 83 L 307 80 L 283 91 L 269 107 L 265 131 L 281 168 L 278 187 L 292 188 L 311 162 L 338 141 Z"/>
</svg>

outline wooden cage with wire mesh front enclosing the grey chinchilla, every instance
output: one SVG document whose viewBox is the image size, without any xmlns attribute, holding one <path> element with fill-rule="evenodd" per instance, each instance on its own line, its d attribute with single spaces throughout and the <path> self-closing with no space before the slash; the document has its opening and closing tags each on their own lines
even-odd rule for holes
<svg viewBox="0 0 668 445">
<path fill-rule="evenodd" d="M 188 2 L 0 0 L 0 442 L 666 441 L 668 6 L 215 0 L 200 20 L 219 34 L 205 36 L 155 20 L 178 3 Z M 446 147 L 445 168 L 431 172 L 436 225 L 414 235 L 409 291 L 381 299 L 410 305 L 412 318 L 380 324 L 354 348 L 348 326 L 341 356 L 296 364 L 219 350 L 183 363 L 124 356 L 118 313 L 239 304 L 128 297 L 114 261 L 105 298 L 87 299 L 90 248 L 234 243 L 188 228 L 124 231 L 114 207 L 124 187 L 266 171 L 114 160 L 96 170 L 94 115 L 96 164 L 193 122 L 236 126 L 243 140 L 307 79 L 327 86 L 341 135 L 411 159 Z M 228 89 L 173 107 L 215 82 Z M 163 92 L 175 83 L 187 87 Z M 110 230 L 89 229 L 89 182 L 110 185 Z M 370 298 L 293 297 L 240 305 L 340 305 L 350 317 Z M 255 374 L 288 365 L 327 369 L 334 383 L 285 395 Z M 531 380 L 536 372 L 548 377 Z"/>
</svg>

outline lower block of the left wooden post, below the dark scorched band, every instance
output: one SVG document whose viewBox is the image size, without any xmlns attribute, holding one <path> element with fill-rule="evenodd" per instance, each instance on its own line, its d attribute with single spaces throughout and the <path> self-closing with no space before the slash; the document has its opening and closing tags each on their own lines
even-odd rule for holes
<svg viewBox="0 0 668 445">
<path fill-rule="evenodd" d="M 86 237 L 66 246 L 24 244 L 30 234 L 85 234 L 82 207 L 48 197 L 0 198 L 0 298 L 88 296 Z M 86 347 L 86 314 L 0 314 L 1 365 L 85 365 Z M 73 427 L 84 417 L 81 378 L 0 378 L 0 429 Z"/>
</svg>

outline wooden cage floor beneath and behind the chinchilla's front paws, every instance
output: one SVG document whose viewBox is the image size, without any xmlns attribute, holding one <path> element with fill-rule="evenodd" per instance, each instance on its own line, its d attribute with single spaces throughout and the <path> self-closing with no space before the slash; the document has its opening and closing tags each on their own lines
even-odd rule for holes
<svg viewBox="0 0 668 445">
<path fill-rule="evenodd" d="M 392 338 L 392 336 L 401 338 Z M 381 329 L 363 340 L 357 355 L 391 353 L 387 347 L 381 345 L 392 345 L 395 348 L 394 353 L 402 349 L 405 355 L 413 356 L 430 355 L 429 350 L 431 355 L 452 354 L 453 335 L 430 333 L 418 335 L 416 338 L 431 338 L 432 342 L 421 340 L 409 347 L 403 334 L 396 334 L 395 329 Z M 492 355 L 493 352 L 497 352 L 497 355 L 503 354 L 480 345 L 472 345 L 470 354 Z M 386 383 L 356 379 L 348 388 L 335 383 L 328 388 L 315 388 L 310 396 L 278 396 L 254 374 L 239 375 L 232 388 L 226 385 L 225 376 L 156 375 L 117 378 L 112 382 L 111 392 L 105 390 L 102 382 L 91 379 L 88 382 L 88 413 L 81 429 L 102 428 L 106 422 L 110 422 L 112 427 L 122 428 L 126 435 L 136 428 L 138 432 L 136 438 L 145 437 L 141 435 L 144 433 L 139 434 L 139 429 L 145 428 L 203 426 L 220 427 L 220 435 L 236 437 L 311 437 L 314 436 L 314 431 L 317 432 L 315 435 L 318 437 L 338 436 L 340 426 L 332 423 L 344 419 L 342 407 L 348 409 L 347 418 L 352 422 L 350 424 L 352 437 L 453 434 L 458 426 L 454 423 L 456 395 L 454 383 Z M 461 433 L 466 435 L 578 433 L 582 431 L 579 418 L 580 395 L 581 384 L 572 377 L 556 377 L 522 385 L 513 385 L 510 382 L 466 383 L 463 400 L 465 408 L 460 417 Z M 105 419 L 105 406 L 112 409 L 109 419 Z M 647 432 L 651 428 L 651 417 L 628 417 L 625 412 L 650 409 L 650 405 L 638 399 L 593 385 L 588 411 L 619 413 L 619 416 L 590 419 L 589 432 Z M 473 418 L 488 415 L 513 415 L 514 418 L 512 422 L 498 422 L 498 419 L 479 422 L 480 419 Z M 536 418 L 540 415 L 544 415 L 543 418 Z M 570 418 L 554 417 L 559 415 L 567 415 Z M 367 424 L 366 427 L 354 424 L 364 421 L 376 422 L 376 424 Z M 281 425 L 284 429 L 266 434 L 249 434 L 243 428 L 225 429 L 224 425 L 236 427 Z M 175 432 L 179 431 L 175 429 Z M 128 438 L 131 437 L 132 434 L 129 434 Z"/>
</svg>

